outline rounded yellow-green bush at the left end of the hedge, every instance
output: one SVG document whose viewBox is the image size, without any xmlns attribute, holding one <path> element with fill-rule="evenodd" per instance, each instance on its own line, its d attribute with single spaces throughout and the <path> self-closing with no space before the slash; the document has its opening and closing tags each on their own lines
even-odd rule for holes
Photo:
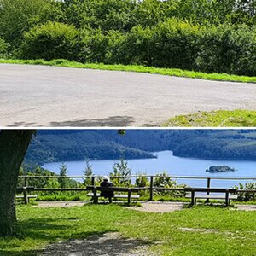
<svg viewBox="0 0 256 256">
<path fill-rule="evenodd" d="M 66 58 L 76 60 L 79 53 L 77 44 L 79 32 L 74 26 L 51 22 L 34 26 L 24 34 L 22 55 L 27 59 Z"/>
</svg>

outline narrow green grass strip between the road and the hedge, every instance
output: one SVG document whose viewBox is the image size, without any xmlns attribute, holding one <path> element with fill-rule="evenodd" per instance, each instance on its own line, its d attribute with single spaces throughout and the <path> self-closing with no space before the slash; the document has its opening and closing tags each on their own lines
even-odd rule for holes
<svg viewBox="0 0 256 256">
<path fill-rule="evenodd" d="M 102 70 L 119 70 L 119 71 L 131 71 L 139 73 L 155 73 L 168 76 L 176 76 L 191 79 L 207 79 L 218 81 L 233 81 L 244 83 L 256 83 L 256 77 L 238 76 L 227 73 L 202 73 L 189 70 L 182 70 L 177 68 L 159 68 L 159 67 L 144 67 L 139 65 L 106 65 L 102 63 L 80 63 L 67 60 L 3 60 L 0 59 L 0 63 L 11 64 L 31 64 L 31 65 L 47 65 L 57 67 L 77 67 L 77 68 L 91 68 Z"/>
</svg>

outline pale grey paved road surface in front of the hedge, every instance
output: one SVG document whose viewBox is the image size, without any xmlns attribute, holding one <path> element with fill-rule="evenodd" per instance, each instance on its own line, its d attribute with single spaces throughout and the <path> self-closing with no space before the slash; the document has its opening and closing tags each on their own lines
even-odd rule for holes
<svg viewBox="0 0 256 256">
<path fill-rule="evenodd" d="M 0 126 L 158 126 L 199 110 L 256 109 L 256 84 L 0 64 Z"/>
</svg>

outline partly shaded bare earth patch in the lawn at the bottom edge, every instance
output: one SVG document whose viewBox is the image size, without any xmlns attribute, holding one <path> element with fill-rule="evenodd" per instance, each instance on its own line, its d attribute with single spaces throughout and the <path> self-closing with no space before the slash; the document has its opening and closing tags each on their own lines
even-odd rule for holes
<svg viewBox="0 0 256 256">
<path fill-rule="evenodd" d="M 149 256 L 158 255 L 148 252 L 145 241 L 127 239 L 118 232 L 103 236 L 90 236 L 87 239 L 59 242 L 37 253 L 40 256 Z"/>
</svg>

